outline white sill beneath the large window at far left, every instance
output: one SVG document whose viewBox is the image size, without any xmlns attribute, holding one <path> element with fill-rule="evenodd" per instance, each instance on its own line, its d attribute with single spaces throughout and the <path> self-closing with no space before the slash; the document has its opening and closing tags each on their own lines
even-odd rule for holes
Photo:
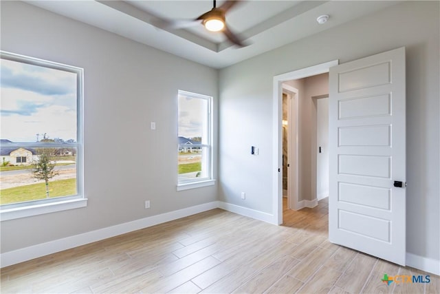
<svg viewBox="0 0 440 294">
<path fill-rule="evenodd" d="M 3 222 L 4 220 L 27 218 L 28 216 L 38 216 L 40 214 L 63 211 L 68 209 L 76 209 L 80 207 L 87 207 L 87 198 L 4 209 L 0 211 L 0 220 Z"/>
</svg>

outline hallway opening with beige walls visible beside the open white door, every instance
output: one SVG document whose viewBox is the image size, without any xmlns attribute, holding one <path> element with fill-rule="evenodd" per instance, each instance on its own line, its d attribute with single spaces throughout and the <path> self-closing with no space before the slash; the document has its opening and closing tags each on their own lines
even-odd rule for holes
<svg viewBox="0 0 440 294">
<path fill-rule="evenodd" d="M 289 88 L 295 91 L 299 107 L 289 106 L 295 101 L 286 92 Z M 328 73 L 283 83 L 283 197 L 288 200 L 283 209 L 316 207 L 318 200 L 328 196 L 328 93 Z"/>
</svg>

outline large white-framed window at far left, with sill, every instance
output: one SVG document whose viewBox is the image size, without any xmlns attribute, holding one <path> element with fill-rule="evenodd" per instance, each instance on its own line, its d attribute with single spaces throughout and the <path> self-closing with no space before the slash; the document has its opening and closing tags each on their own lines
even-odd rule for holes
<svg viewBox="0 0 440 294">
<path fill-rule="evenodd" d="M 85 206 L 83 70 L 0 56 L 1 220 Z"/>
</svg>

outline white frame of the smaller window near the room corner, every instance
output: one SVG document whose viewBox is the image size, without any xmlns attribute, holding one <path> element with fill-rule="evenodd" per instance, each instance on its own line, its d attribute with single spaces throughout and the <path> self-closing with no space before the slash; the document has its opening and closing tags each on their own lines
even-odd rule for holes
<svg viewBox="0 0 440 294">
<path fill-rule="evenodd" d="M 197 94 L 193 92 L 188 92 L 184 90 L 178 90 L 177 92 L 177 139 L 179 137 L 179 97 L 185 96 L 190 98 L 196 98 L 196 99 L 203 99 L 207 101 L 208 103 L 208 114 L 207 114 L 207 129 L 208 129 L 208 135 L 206 136 L 208 143 L 203 143 L 200 145 L 197 145 L 197 147 L 200 147 L 207 149 L 208 158 L 206 159 L 206 168 L 208 169 L 207 174 L 208 176 L 203 178 L 195 178 L 191 180 L 180 180 L 179 179 L 179 171 L 177 169 L 177 191 L 187 190 L 187 189 L 194 189 L 199 187 L 206 187 L 214 185 L 214 147 L 213 147 L 213 118 L 212 118 L 212 96 L 203 95 L 203 94 Z M 179 150 L 181 147 L 185 147 L 186 144 L 179 144 L 177 142 L 177 150 Z M 179 160 L 179 152 L 177 151 L 177 165 Z M 202 162 L 203 165 L 203 162 Z"/>
</svg>

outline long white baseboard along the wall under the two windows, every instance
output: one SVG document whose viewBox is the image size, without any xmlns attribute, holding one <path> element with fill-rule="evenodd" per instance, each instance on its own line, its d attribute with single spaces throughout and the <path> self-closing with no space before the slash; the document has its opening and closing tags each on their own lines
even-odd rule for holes
<svg viewBox="0 0 440 294">
<path fill-rule="evenodd" d="M 71 237 L 62 238 L 34 246 L 17 249 L 1 253 L 0 255 L 0 267 L 10 266 L 19 262 L 25 262 L 34 258 L 39 258 L 44 255 L 49 255 L 59 251 L 72 249 L 77 246 L 89 244 L 99 240 L 114 237 L 115 235 L 121 235 L 144 229 L 146 227 L 154 226 L 155 224 L 162 224 L 163 222 L 169 222 L 170 220 L 177 220 L 178 218 L 184 218 L 186 216 L 192 216 L 195 213 L 201 213 L 210 209 L 218 208 L 218 202 L 208 202 L 199 204 L 193 207 L 185 209 L 179 209 L 176 211 L 170 211 L 162 213 L 157 216 L 150 216 L 148 218 L 142 218 L 140 220 L 133 220 L 133 222 L 125 222 L 123 224 L 117 224 L 112 227 L 98 229 L 96 231 L 90 231 L 79 235 L 73 235 Z"/>
</svg>

